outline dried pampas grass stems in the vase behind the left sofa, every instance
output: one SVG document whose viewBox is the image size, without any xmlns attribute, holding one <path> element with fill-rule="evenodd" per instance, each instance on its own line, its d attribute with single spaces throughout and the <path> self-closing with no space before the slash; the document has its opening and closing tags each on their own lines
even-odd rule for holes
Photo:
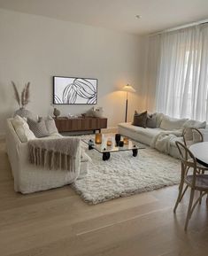
<svg viewBox="0 0 208 256">
<path fill-rule="evenodd" d="M 16 99 L 19 107 L 24 107 L 29 103 L 29 86 L 30 86 L 30 82 L 27 82 L 24 89 L 21 92 L 21 98 L 19 96 L 19 91 L 17 89 L 16 84 L 12 81 L 12 86 L 14 89 L 14 98 Z"/>
</svg>

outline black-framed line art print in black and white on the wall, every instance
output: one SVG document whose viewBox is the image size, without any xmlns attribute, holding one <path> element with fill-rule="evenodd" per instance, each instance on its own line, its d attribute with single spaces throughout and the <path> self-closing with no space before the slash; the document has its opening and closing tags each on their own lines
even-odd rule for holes
<svg viewBox="0 0 208 256">
<path fill-rule="evenodd" d="M 53 77 L 53 103 L 96 105 L 97 79 Z"/>
</svg>

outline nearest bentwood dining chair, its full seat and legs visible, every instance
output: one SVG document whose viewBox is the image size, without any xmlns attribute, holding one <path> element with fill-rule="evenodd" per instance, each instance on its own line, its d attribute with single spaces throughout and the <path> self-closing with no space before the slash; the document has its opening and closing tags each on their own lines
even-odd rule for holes
<svg viewBox="0 0 208 256">
<path fill-rule="evenodd" d="M 179 185 L 179 194 L 176 200 L 173 212 L 176 212 L 176 209 L 181 202 L 186 190 L 190 188 L 190 197 L 189 197 L 189 208 L 187 212 L 185 230 L 188 228 L 189 219 L 193 213 L 197 203 L 200 203 L 204 195 L 208 194 L 208 175 L 199 174 L 197 170 L 197 163 L 195 156 L 189 151 L 188 147 L 180 142 L 175 142 L 181 159 L 181 182 Z M 186 184 L 184 188 L 184 184 Z M 194 202 L 195 191 L 200 191 L 200 196 L 196 198 Z"/>
</svg>

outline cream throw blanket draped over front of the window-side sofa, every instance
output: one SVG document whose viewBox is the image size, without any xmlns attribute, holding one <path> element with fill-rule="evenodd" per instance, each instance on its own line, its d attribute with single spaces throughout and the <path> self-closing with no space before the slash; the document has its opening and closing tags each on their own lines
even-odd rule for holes
<svg viewBox="0 0 208 256">
<path fill-rule="evenodd" d="M 158 136 L 152 139 L 150 147 L 169 154 L 171 142 L 176 141 L 176 138 L 181 136 L 182 130 L 160 132 Z"/>
</svg>

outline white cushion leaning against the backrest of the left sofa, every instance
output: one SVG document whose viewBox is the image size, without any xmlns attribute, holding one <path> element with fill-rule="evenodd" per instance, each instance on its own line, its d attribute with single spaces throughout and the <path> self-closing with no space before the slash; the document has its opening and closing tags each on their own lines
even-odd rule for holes
<svg viewBox="0 0 208 256">
<path fill-rule="evenodd" d="M 35 135 L 34 133 L 30 130 L 27 121 L 21 118 L 19 115 L 16 115 L 12 119 L 12 125 L 13 128 L 15 129 L 17 135 L 19 136 L 19 140 L 22 143 L 26 143 L 29 140 L 34 140 Z"/>
</svg>

